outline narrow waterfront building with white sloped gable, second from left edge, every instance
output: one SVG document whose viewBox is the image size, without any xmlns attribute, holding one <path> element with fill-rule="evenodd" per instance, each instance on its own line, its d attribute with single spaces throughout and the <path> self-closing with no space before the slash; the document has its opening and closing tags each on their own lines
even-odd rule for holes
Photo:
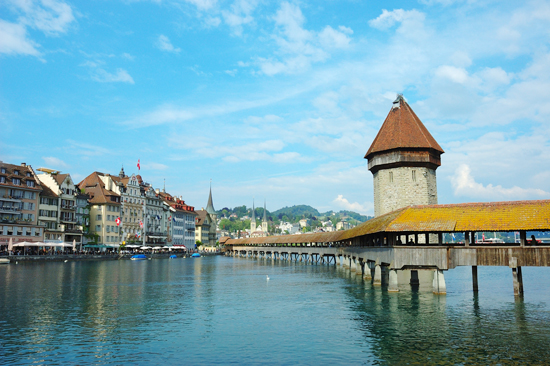
<svg viewBox="0 0 550 366">
<path fill-rule="evenodd" d="M 82 227 L 78 224 L 76 219 L 76 195 L 79 189 L 75 186 L 71 176 L 69 174 L 61 174 L 61 172 L 52 169 L 39 168 L 38 171 L 42 174 L 38 174 L 42 186 L 49 188 L 47 193 L 49 196 L 52 193 L 55 197 L 48 197 L 48 204 L 52 202 L 57 203 L 55 215 L 56 222 L 46 219 L 45 216 L 41 216 L 41 220 L 49 225 L 49 231 L 46 232 L 46 240 L 58 240 L 62 242 L 76 242 L 80 245 L 82 243 Z M 41 213 L 52 213 L 51 209 L 48 209 L 45 204 Z M 51 205 L 50 205 L 51 207 Z M 52 217 L 50 216 L 49 219 Z M 53 226 L 56 226 L 55 228 Z M 54 232 L 52 232 L 54 231 Z"/>
</svg>

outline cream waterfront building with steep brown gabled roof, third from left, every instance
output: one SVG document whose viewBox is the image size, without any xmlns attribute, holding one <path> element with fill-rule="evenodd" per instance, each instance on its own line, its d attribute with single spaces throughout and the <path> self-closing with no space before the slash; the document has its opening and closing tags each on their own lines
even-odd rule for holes
<svg viewBox="0 0 550 366">
<path fill-rule="evenodd" d="M 89 237 L 90 241 L 85 247 L 111 247 L 118 248 L 122 241 L 122 230 L 116 224 L 116 219 L 121 216 L 122 186 L 109 174 L 93 172 L 78 187 L 89 198 Z M 122 223 L 121 223 L 122 225 Z"/>
</svg>

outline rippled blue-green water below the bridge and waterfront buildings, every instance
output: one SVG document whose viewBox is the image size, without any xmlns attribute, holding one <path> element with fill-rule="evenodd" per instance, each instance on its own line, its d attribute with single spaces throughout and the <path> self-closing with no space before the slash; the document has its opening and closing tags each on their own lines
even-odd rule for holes
<svg viewBox="0 0 550 366">
<path fill-rule="evenodd" d="M 0 266 L 0 364 L 550 364 L 550 268 L 374 288 L 340 266 L 230 257 Z M 269 275 L 270 280 L 266 280 Z"/>
</svg>

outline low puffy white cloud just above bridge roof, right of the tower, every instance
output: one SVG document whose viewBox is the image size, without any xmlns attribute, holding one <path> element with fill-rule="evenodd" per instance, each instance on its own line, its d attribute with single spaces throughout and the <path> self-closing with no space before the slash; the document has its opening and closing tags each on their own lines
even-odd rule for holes
<svg viewBox="0 0 550 366">
<path fill-rule="evenodd" d="M 550 197 L 550 193 L 542 189 L 521 188 L 517 186 L 504 188 L 501 185 L 493 186 L 492 184 L 484 186 L 475 181 L 474 177 L 471 175 L 470 167 L 466 164 L 461 164 L 456 169 L 452 180 L 452 186 L 457 196 L 477 197 L 484 200 L 521 200 L 529 197 Z"/>
</svg>

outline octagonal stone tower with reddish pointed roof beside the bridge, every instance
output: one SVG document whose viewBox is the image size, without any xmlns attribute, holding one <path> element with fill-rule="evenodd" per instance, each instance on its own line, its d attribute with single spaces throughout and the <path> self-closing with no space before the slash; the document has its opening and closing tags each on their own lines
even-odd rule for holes
<svg viewBox="0 0 550 366">
<path fill-rule="evenodd" d="M 444 151 L 400 94 L 365 154 L 374 180 L 376 217 L 437 204 L 436 169 Z"/>
</svg>

